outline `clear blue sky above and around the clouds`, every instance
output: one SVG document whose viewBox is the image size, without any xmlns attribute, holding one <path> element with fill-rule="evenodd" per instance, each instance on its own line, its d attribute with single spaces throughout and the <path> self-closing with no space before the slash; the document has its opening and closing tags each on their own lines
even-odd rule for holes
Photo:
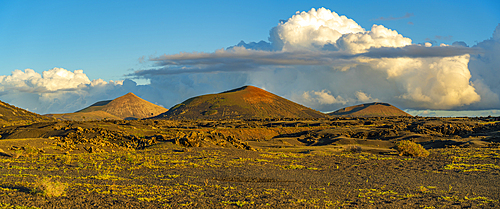
<svg viewBox="0 0 500 209">
<path fill-rule="evenodd" d="M 413 44 L 431 42 L 434 45 L 451 45 L 453 42 L 463 41 L 468 46 L 474 46 L 491 38 L 495 27 L 500 23 L 498 1 L 0 0 L 0 75 L 11 75 L 17 69 L 33 69 L 42 73 L 57 67 L 71 72 L 83 70 L 90 80 L 103 79 L 109 82 L 132 78 L 139 86 L 148 85 L 150 77 L 125 75 L 133 75 L 134 71 L 158 65 L 148 61 L 150 57 L 176 55 L 180 52 L 212 53 L 234 46 L 242 40 L 246 43 L 261 40 L 268 42 L 269 31 L 276 27 L 280 20 L 287 20 L 295 15 L 296 11 L 307 12 L 311 8 L 321 7 L 353 19 L 366 30 L 370 30 L 373 24 L 396 30 L 411 39 Z M 141 58 L 144 58 L 145 62 L 140 62 Z M 259 82 L 256 84 L 249 80 L 251 79 L 243 83 L 260 84 L 263 88 L 271 86 L 266 89 L 294 100 L 293 92 L 282 93 L 277 85 Z M 158 86 L 161 85 L 156 85 Z M 206 86 L 202 85 L 197 88 L 204 87 Z M 218 91 L 223 87 L 226 86 L 219 85 L 217 88 L 208 89 Z M 146 87 L 140 88 L 142 90 L 138 92 L 146 91 Z M 166 90 L 168 89 L 162 91 Z M 318 87 L 304 89 L 304 92 L 322 90 Z M 333 89 L 326 89 L 326 92 L 330 92 L 336 99 L 342 94 Z M 202 93 L 203 91 L 190 91 L 184 92 L 183 96 Z M 5 92 L 3 94 L 5 95 Z M 104 96 L 119 95 L 118 92 L 108 91 Z M 154 98 L 145 93 L 143 97 Z M 99 99 L 88 98 L 82 100 L 82 105 Z M 163 95 L 162 98 L 168 100 L 169 96 Z M 24 104 L 25 100 L 14 96 L 0 96 L 0 99 L 30 109 Z M 172 101 L 174 100 L 179 102 L 180 99 Z M 51 101 L 60 100 L 52 98 Z M 165 106 L 175 102 L 157 101 Z M 345 104 L 339 103 L 338 106 Z M 405 108 L 405 104 L 401 102 L 400 106 Z M 335 107 L 337 106 L 315 106 L 323 111 Z M 415 108 L 411 105 L 407 107 Z M 480 107 L 474 107 L 478 108 Z M 491 108 L 491 105 L 488 108 Z M 34 110 L 32 107 L 31 109 L 35 112 L 54 111 Z M 74 109 L 77 107 L 61 108 L 61 111 Z M 463 105 L 451 108 L 460 109 L 468 108 Z"/>
</svg>

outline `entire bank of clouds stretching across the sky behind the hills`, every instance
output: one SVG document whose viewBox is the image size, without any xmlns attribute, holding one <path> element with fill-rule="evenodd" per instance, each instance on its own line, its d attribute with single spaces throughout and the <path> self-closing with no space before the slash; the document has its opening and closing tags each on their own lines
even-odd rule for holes
<svg viewBox="0 0 500 209">
<path fill-rule="evenodd" d="M 169 108 L 192 96 L 251 84 L 321 111 L 372 101 L 417 110 L 491 109 L 500 106 L 499 55 L 500 25 L 491 39 L 473 47 L 419 45 L 394 29 L 366 30 L 320 8 L 280 22 L 269 42 L 151 58 L 151 67 L 128 75 L 148 79 L 148 85 L 90 81 L 79 70 L 14 71 L 0 77 L 0 99 L 14 101 L 18 97 L 10 92 L 22 92 L 49 104 L 37 112 L 64 112 L 132 91 Z M 64 104 L 68 98 L 76 102 Z"/>
</svg>

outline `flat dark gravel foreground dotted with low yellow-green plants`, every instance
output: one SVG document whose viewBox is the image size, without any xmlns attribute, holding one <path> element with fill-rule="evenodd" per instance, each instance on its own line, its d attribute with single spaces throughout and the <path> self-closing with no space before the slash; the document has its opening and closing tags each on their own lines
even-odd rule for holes
<svg viewBox="0 0 500 209">
<path fill-rule="evenodd" d="M 427 158 L 300 154 L 171 144 L 142 151 L 0 159 L 2 207 L 495 208 L 499 149 L 434 149 Z M 43 177 L 68 187 L 33 193 Z"/>
</svg>

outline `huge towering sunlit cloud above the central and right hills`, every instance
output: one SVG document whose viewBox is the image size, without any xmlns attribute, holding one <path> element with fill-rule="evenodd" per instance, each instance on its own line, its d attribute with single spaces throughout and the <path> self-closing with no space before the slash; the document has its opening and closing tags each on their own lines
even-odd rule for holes
<svg viewBox="0 0 500 209">
<path fill-rule="evenodd" d="M 412 44 L 396 30 L 365 30 L 325 8 L 297 12 L 271 29 L 269 41 L 163 55 L 152 59 L 157 68 L 134 75 L 245 74 L 246 83 L 323 111 L 368 101 L 359 92 L 414 109 L 467 109 L 483 101 L 468 69 L 476 51 L 468 47 Z"/>
</svg>

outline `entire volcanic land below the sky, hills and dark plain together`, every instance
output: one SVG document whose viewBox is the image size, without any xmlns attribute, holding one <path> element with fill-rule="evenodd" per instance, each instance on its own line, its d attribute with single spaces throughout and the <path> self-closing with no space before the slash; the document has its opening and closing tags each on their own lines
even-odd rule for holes
<svg viewBox="0 0 500 209">
<path fill-rule="evenodd" d="M 2 103 L 0 207 L 500 207 L 498 117 L 326 115 L 255 87 L 167 112 L 139 99 L 47 116 Z"/>
</svg>

